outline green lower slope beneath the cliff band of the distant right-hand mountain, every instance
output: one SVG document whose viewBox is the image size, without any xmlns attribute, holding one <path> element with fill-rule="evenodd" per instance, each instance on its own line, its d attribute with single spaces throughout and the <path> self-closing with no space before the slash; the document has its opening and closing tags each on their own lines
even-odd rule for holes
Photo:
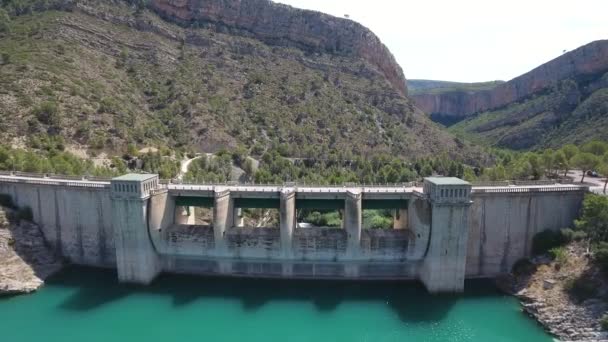
<svg viewBox="0 0 608 342">
<path fill-rule="evenodd" d="M 563 80 L 504 108 L 451 126 L 478 144 L 512 149 L 557 148 L 592 139 L 608 141 L 608 73 Z"/>
</svg>

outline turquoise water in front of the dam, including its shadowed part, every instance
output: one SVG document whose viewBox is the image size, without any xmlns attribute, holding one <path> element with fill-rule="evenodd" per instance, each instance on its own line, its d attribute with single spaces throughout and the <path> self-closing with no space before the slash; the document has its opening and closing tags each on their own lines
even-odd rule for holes
<svg viewBox="0 0 608 342">
<path fill-rule="evenodd" d="M 74 268 L 36 294 L 0 298 L 0 340 L 475 341 L 552 339 L 489 283 L 430 296 L 416 283 L 163 276 L 128 287 Z"/>
</svg>

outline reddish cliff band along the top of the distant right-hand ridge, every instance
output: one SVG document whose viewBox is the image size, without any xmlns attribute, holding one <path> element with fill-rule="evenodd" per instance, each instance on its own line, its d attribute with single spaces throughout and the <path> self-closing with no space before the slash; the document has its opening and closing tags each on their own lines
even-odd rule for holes
<svg viewBox="0 0 608 342">
<path fill-rule="evenodd" d="M 464 118 L 526 98 L 555 82 L 584 78 L 608 71 L 608 40 L 599 40 L 568 52 L 492 90 L 450 91 L 412 96 L 416 106 L 428 114 Z"/>
</svg>

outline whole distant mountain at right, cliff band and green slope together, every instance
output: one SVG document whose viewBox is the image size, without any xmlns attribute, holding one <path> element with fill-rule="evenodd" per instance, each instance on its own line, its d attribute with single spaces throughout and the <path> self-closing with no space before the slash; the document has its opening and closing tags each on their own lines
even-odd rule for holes
<svg viewBox="0 0 608 342">
<path fill-rule="evenodd" d="M 608 139 L 608 40 L 568 52 L 492 89 L 422 91 L 416 105 L 483 144 L 516 149 Z"/>
</svg>

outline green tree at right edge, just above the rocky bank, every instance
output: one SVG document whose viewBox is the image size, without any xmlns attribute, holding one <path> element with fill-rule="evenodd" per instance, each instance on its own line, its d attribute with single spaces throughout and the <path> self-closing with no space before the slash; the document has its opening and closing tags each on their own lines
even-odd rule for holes
<svg viewBox="0 0 608 342">
<path fill-rule="evenodd" d="M 574 222 L 577 229 L 587 233 L 595 242 L 608 239 L 608 197 L 587 195 L 583 201 L 582 215 Z"/>
</svg>

